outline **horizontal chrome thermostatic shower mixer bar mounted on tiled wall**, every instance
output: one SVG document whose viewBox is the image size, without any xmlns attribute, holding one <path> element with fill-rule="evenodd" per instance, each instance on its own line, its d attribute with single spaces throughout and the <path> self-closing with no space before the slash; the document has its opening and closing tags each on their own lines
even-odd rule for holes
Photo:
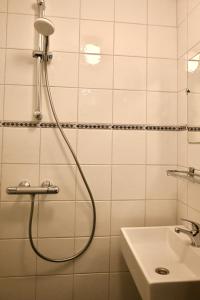
<svg viewBox="0 0 200 300">
<path fill-rule="evenodd" d="M 50 181 L 44 181 L 41 186 L 31 186 L 28 181 L 22 181 L 18 186 L 8 187 L 6 192 L 10 195 L 57 194 L 59 188 Z"/>
</svg>

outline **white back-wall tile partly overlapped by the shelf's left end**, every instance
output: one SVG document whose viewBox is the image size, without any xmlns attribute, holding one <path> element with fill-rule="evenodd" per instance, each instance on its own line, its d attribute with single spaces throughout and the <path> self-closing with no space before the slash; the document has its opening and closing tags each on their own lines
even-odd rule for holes
<svg viewBox="0 0 200 300">
<path fill-rule="evenodd" d="M 174 166 L 147 166 L 147 199 L 176 199 L 177 180 L 167 176 L 167 170 Z"/>
</svg>

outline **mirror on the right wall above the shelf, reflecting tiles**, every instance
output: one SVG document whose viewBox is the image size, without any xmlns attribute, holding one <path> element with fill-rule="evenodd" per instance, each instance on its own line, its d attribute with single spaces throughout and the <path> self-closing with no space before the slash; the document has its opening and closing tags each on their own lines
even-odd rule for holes
<svg viewBox="0 0 200 300">
<path fill-rule="evenodd" d="M 189 53 L 187 75 L 188 142 L 200 143 L 200 45 Z"/>
</svg>

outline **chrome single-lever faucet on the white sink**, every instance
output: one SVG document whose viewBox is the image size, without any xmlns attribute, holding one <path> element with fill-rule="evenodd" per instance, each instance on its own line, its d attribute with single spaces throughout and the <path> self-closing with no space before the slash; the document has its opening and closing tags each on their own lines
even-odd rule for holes
<svg viewBox="0 0 200 300">
<path fill-rule="evenodd" d="M 175 232 L 188 235 L 191 240 L 191 245 L 194 247 L 200 247 L 200 224 L 183 218 L 181 220 L 190 223 L 192 225 L 192 229 L 187 230 L 181 227 L 176 227 Z"/>
</svg>

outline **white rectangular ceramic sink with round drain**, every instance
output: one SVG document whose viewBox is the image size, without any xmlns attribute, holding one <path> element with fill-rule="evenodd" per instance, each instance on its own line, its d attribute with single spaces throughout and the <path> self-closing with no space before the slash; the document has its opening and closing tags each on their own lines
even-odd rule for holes
<svg viewBox="0 0 200 300">
<path fill-rule="evenodd" d="M 143 300 L 200 299 L 200 248 L 174 229 L 121 228 L 121 250 Z"/>
</svg>

